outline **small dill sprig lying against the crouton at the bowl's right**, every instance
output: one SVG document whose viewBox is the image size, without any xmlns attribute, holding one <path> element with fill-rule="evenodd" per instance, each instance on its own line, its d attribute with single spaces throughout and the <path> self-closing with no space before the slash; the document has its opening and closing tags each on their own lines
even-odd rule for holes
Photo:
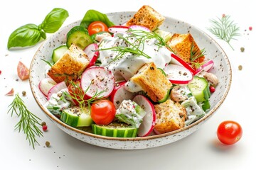
<svg viewBox="0 0 256 170">
<path fill-rule="evenodd" d="M 192 68 L 198 69 L 201 67 L 204 62 L 198 62 L 198 58 L 203 57 L 206 55 L 206 49 L 203 48 L 202 50 L 195 49 L 195 45 L 193 45 L 193 42 L 191 44 L 191 54 L 190 54 L 190 63 Z"/>
</svg>

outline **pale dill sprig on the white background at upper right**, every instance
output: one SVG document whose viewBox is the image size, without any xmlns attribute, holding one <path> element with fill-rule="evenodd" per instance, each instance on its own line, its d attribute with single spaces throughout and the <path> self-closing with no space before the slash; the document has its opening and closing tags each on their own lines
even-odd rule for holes
<svg viewBox="0 0 256 170">
<path fill-rule="evenodd" d="M 212 26 L 208 28 L 210 33 L 213 33 L 213 35 L 217 36 L 221 40 L 228 42 L 228 45 L 230 45 L 230 40 L 237 40 L 235 37 L 240 36 L 240 33 L 238 33 L 240 28 L 236 23 L 234 23 L 234 21 L 230 20 L 230 16 L 211 19 L 210 22 L 212 23 Z M 234 50 L 231 45 L 230 47 Z"/>
</svg>

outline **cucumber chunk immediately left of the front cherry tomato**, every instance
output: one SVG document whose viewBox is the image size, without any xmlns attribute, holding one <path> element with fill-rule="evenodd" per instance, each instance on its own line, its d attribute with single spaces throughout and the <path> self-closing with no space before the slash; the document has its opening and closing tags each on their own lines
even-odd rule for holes
<svg viewBox="0 0 256 170">
<path fill-rule="evenodd" d="M 92 118 L 87 107 L 73 106 L 63 109 L 60 120 L 72 127 L 83 127 L 92 125 Z"/>
</svg>

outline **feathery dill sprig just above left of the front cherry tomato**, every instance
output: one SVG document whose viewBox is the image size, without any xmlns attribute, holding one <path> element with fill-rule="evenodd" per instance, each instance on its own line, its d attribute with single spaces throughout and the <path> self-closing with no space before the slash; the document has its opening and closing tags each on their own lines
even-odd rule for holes
<svg viewBox="0 0 256 170">
<path fill-rule="evenodd" d="M 90 89 L 91 84 L 92 82 L 87 87 L 87 89 L 83 91 L 82 88 L 80 87 L 80 84 L 70 81 L 70 86 L 72 86 L 71 90 L 68 92 L 64 91 L 63 93 L 69 98 L 72 98 L 74 101 L 77 101 L 78 106 L 80 106 L 81 109 L 84 109 L 86 106 L 88 106 L 90 111 L 91 104 L 96 100 L 100 100 L 104 98 L 102 94 L 105 92 L 105 90 L 98 92 L 96 89 L 95 94 L 91 98 L 85 99 L 85 94 Z"/>
</svg>

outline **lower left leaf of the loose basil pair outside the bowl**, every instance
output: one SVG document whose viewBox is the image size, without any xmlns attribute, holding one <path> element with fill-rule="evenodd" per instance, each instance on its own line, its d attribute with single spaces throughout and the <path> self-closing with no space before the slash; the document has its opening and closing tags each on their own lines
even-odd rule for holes
<svg viewBox="0 0 256 170">
<path fill-rule="evenodd" d="M 38 30 L 38 26 L 32 23 L 28 23 L 25 26 L 21 26 L 14 30 L 9 36 L 8 49 L 11 47 L 26 47 L 36 45 L 41 40 L 41 32 Z"/>
</svg>

